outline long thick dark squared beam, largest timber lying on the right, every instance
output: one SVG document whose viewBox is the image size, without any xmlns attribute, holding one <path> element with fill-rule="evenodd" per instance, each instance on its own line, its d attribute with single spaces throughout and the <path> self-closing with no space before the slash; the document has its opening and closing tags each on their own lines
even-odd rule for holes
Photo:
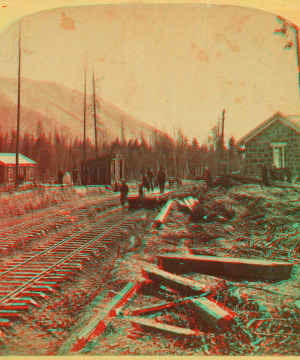
<svg viewBox="0 0 300 360">
<path fill-rule="evenodd" d="M 204 255 L 158 255 L 159 266 L 174 273 L 200 272 L 245 279 L 287 279 L 294 264 L 280 261 Z"/>
</svg>

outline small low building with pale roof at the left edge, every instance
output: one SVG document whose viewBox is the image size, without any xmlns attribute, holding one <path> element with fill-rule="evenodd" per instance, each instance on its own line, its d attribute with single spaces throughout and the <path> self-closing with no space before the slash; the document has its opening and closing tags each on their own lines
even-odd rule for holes
<svg viewBox="0 0 300 360">
<path fill-rule="evenodd" d="M 24 182 L 36 182 L 37 163 L 19 154 L 19 178 Z M 0 153 L 0 184 L 14 184 L 16 181 L 16 154 Z"/>
</svg>

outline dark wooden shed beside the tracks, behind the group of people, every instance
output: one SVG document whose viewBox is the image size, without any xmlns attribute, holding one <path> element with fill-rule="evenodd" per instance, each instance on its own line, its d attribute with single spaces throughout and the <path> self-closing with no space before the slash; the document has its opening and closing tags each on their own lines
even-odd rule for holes
<svg viewBox="0 0 300 360">
<path fill-rule="evenodd" d="M 124 177 L 124 161 L 120 154 L 107 154 L 81 162 L 82 185 L 111 185 Z"/>
</svg>

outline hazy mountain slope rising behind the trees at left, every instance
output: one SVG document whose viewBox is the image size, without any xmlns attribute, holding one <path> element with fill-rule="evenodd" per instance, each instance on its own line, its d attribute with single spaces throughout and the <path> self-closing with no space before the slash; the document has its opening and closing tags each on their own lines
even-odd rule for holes
<svg viewBox="0 0 300 360">
<path fill-rule="evenodd" d="M 121 139 L 122 120 L 126 140 L 135 139 L 142 133 L 146 140 L 157 130 L 125 113 L 108 101 L 98 98 L 100 111 L 97 114 L 99 129 L 107 140 Z M 4 132 L 16 128 L 17 80 L 0 77 L 0 125 Z M 20 128 L 35 133 L 41 121 L 45 133 L 57 129 L 68 137 L 83 138 L 83 93 L 70 90 L 60 84 L 22 78 Z M 100 123 L 102 125 L 100 125 Z M 87 116 L 87 136 L 93 142 L 94 127 L 91 115 Z"/>
</svg>

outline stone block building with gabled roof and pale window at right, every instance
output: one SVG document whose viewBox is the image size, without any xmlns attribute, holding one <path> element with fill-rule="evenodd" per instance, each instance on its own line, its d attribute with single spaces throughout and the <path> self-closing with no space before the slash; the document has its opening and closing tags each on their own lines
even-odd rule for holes
<svg viewBox="0 0 300 360">
<path fill-rule="evenodd" d="M 300 176 L 300 116 L 276 112 L 238 141 L 245 146 L 243 174 L 261 176 L 261 167 Z"/>
</svg>

